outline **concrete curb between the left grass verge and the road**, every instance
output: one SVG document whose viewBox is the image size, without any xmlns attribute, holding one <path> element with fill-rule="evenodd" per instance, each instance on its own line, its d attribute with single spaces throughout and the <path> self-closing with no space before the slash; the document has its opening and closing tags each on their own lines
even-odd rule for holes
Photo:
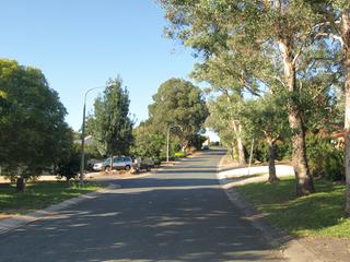
<svg viewBox="0 0 350 262">
<path fill-rule="evenodd" d="M 31 213 L 23 215 L 23 216 L 14 216 L 12 218 L 0 221 L 0 235 L 7 234 L 13 229 L 19 228 L 19 227 L 23 227 L 30 223 L 35 222 L 35 221 L 43 219 L 46 216 L 54 215 L 56 212 L 58 212 L 62 209 L 66 209 L 68 206 L 81 203 L 86 200 L 94 199 L 101 193 L 112 192 L 113 190 L 118 189 L 118 188 L 120 188 L 119 184 L 109 184 L 108 187 L 103 188 L 103 189 L 98 189 L 94 192 L 82 194 L 77 198 L 72 198 L 72 199 L 66 200 L 63 202 L 52 204 L 44 210 L 38 210 L 38 211 L 31 212 Z"/>
</svg>

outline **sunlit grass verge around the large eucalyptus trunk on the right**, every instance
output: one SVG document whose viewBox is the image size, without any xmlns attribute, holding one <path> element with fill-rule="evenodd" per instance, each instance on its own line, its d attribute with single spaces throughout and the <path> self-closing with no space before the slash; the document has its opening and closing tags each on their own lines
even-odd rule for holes
<svg viewBox="0 0 350 262">
<path fill-rule="evenodd" d="M 294 179 L 279 184 L 250 183 L 235 190 L 278 227 L 294 236 L 350 238 L 345 218 L 345 186 L 315 180 L 316 193 L 295 198 Z"/>
</svg>

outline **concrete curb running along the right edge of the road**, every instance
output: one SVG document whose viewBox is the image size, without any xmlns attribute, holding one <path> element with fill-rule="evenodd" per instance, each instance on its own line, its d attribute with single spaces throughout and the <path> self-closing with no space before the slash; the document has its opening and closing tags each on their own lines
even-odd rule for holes
<svg viewBox="0 0 350 262">
<path fill-rule="evenodd" d="M 298 262 L 323 262 L 314 252 L 305 248 L 296 238 L 291 237 L 287 233 L 273 227 L 261 213 L 259 213 L 250 203 L 232 188 L 226 188 L 229 180 L 220 177 L 219 172 L 222 167 L 223 157 L 217 167 L 217 177 L 221 188 L 224 190 L 230 201 L 237 206 L 245 219 L 249 221 L 254 227 L 262 233 L 262 236 L 271 243 L 272 248 L 279 250 L 289 261 Z"/>
</svg>

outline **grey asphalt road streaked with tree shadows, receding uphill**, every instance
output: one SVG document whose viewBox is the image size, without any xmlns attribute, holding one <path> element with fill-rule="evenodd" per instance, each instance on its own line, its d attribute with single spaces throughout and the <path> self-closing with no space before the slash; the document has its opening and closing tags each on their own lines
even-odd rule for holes
<svg viewBox="0 0 350 262">
<path fill-rule="evenodd" d="M 281 261 L 218 184 L 209 151 L 2 235 L 0 261 Z"/>
</svg>

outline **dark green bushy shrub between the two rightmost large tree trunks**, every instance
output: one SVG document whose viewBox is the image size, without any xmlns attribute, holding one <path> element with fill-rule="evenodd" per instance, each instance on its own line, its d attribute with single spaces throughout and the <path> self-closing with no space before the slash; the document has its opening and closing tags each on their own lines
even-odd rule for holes
<svg viewBox="0 0 350 262">
<path fill-rule="evenodd" d="M 310 170 L 315 177 L 345 180 L 345 152 L 337 150 L 329 136 L 317 133 L 306 135 Z"/>
</svg>

